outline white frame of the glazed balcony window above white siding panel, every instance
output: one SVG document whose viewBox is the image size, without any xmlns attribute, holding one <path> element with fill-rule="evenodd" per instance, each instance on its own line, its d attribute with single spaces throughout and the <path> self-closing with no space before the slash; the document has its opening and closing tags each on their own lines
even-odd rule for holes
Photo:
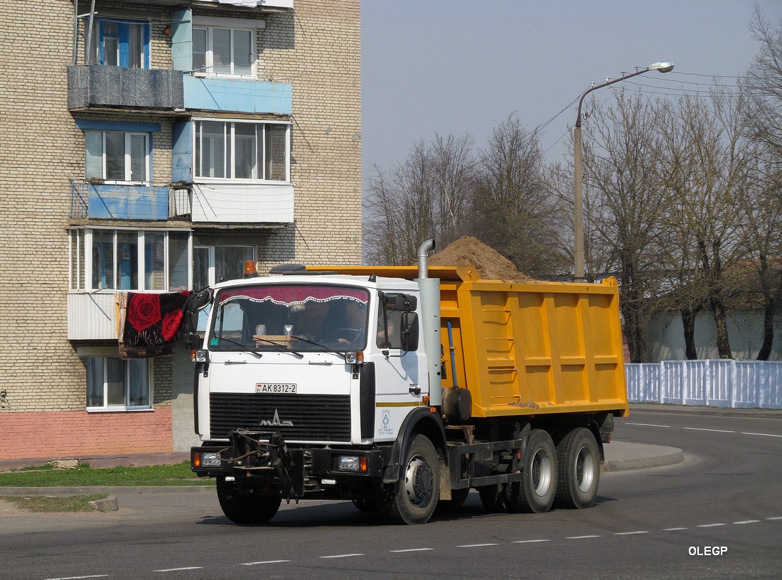
<svg viewBox="0 0 782 580">
<path fill-rule="evenodd" d="M 203 131 L 199 131 L 199 127 L 204 122 L 223 124 L 223 169 L 225 177 L 210 177 L 199 174 L 203 172 L 203 159 L 199 159 L 198 156 L 203 156 Z M 225 181 L 239 181 L 242 183 L 273 183 L 273 184 L 289 184 L 291 179 L 291 124 L 287 121 L 274 121 L 274 120 L 246 120 L 246 119 L 216 119 L 214 117 L 194 117 L 192 120 L 192 168 L 194 181 L 199 183 L 224 183 Z M 255 143 L 255 148 L 259 146 L 263 150 L 263 156 L 261 157 L 260 167 L 256 168 L 256 174 L 260 177 L 235 177 L 236 169 L 236 125 L 247 124 L 262 125 L 264 127 L 263 137 L 258 139 Z M 266 127 L 267 126 L 284 126 L 285 127 L 285 177 L 284 179 L 268 179 L 266 177 Z M 257 134 L 257 133 L 256 133 Z M 256 154 L 256 160 L 259 155 Z"/>
</svg>

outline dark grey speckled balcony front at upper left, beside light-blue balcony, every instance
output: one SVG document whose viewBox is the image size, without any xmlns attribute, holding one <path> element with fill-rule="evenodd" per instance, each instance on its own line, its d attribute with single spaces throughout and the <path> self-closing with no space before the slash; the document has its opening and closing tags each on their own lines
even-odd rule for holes
<svg viewBox="0 0 782 580">
<path fill-rule="evenodd" d="M 174 112 L 184 105 L 178 70 L 68 66 L 68 109 L 123 107 Z"/>
</svg>

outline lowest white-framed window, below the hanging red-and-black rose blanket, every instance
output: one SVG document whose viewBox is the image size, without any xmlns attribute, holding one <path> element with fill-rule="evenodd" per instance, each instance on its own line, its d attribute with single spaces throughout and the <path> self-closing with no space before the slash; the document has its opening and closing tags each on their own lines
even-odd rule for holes
<svg viewBox="0 0 782 580">
<path fill-rule="evenodd" d="M 88 356 L 87 408 L 127 410 L 151 408 L 149 360 Z"/>
</svg>

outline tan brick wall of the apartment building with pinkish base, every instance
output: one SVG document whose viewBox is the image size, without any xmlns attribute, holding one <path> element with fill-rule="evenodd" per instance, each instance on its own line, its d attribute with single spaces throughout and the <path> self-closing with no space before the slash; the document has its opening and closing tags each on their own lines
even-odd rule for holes
<svg viewBox="0 0 782 580">
<path fill-rule="evenodd" d="M 80 3 L 80 13 L 88 10 L 82 9 L 85 5 L 88 2 Z M 101 9 L 150 18 L 152 66 L 170 68 L 170 41 L 162 36 L 170 18 L 168 9 L 121 2 L 103 2 Z M 228 10 L 210 11 L 210 15 L 246 13 Z M 262 269 L 264 264 L 290 261 L 360 263 L 359 1 L 296 0 L 295 16 L 256 17 L 266 21 L 266 28 L 258 35 L 258 78 L 292 83 L 296 225 L 243 235 L 256 245 Z M 0 148 L 0 390 L 7 392 L 8 403 L 0 407 L 0 434 L 5 436 L 12 429 L 16 434 L 10 446 L 2 442 L 0 456 L 10 453 L 9 449 L 20 449 L 25 441 L 30 452 L 37 449 L 38 437 L 30 436 L 32 431 L 23 435 L 37 423 L 49 428 L 57 424 L 63 436 L 49 439 L 47 449 L 57 441 L 63 445 L 59 455 L 82 449 L 72 447 L 76 442 L 84 449 L 95 446 L 101 440 L 89 433 L 93 424 L 99 424 L 96 417 L 106 421 L 97 431 L 120 417 L 138 422 L 141 428 L 153 427 L 150 417 L 156 421 L 167 417 L 165 450 L 170 450 L 171 414 L 163 407 L 170 407 L 170 398 L 180 392 L 174 388 L 178 379 L 173 376 L 170 360 L 161 360 L 154 367 L 153 413 L 96 415 L 84 411 L 84 364 L 76 354 L 76 345 L 66 336 L 69 179 L 84 175 L 84 136 L 67 109 L 66 67 L 73 63 L 73 19 L 73 2 L 50 2 L 46 34 L 41 36 L 37 3 L 0 2 L 4 71 L 0 77 L 4 138 Z M 83 63 L 81 54 L 77 63 Z M 79 116 L 108 118 L 95 113 Z M 166 183 L 170 180 L 171 117 L 135 113 L 132 119 L 161 124 L 162 131 L 153 137 L 152 178 L 156 185 Z M 182 379 L 185 383 L 189 380 Z M 126 446 L 125 439 L 135 446 L 135 431 L 129 426 L 122 432 L 126 431 L 120 446 Z M 102 441 L 106 446 L 116 444 Z M 90 449 L 79 453 L 114 453 Z M 30 452 L 22 456 L 31 456 Z M 123 452 L 129 453 L 127 449 Z"/>
</svg>

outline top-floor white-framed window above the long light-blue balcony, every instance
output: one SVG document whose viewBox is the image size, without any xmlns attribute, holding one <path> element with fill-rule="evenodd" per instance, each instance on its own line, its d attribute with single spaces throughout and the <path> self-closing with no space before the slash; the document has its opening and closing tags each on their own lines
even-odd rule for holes
<svg viewBox="0 0 782 580">
<path fill-rule="evenodd" d="M 253 30 L 193 27 L 193 70 L 196 74 L 252 77 L 255 63 Z"/>
</svg>

